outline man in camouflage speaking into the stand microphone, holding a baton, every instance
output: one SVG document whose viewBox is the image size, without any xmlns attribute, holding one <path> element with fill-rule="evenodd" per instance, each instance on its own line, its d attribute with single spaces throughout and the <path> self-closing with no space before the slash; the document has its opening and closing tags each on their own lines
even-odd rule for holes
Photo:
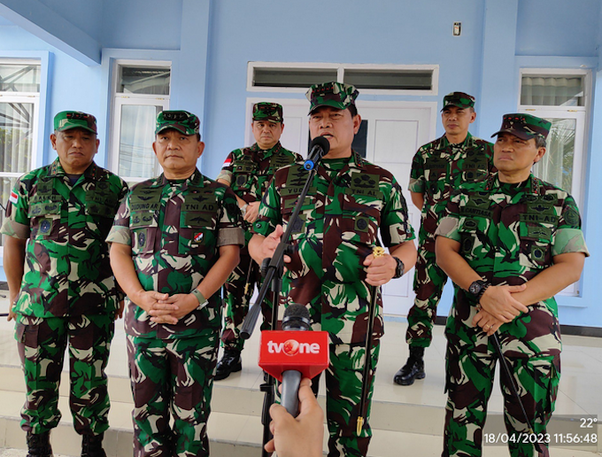
<svg viewBox="0 0 602 457">
<path fill-rule="evenodd" d="M 349 84 L 313 86 L 309 128 L 312 138 L 325 136 L 330 150 L 301 208 L 292 232 L 288 271 L 283 277 L 285 304 L 308 306 L 312 328 L 328 331 L 330 365 L 326 372 L 328 455 L 366 455 L 372 431 L 359 435 L 362 370 L 372 287 L 388 283 L 413 267 L 416 249 L 405 200 L 390 172 L 351 150 L 361 118 L 355 106 L 358 91 Z M 273 255 L 289 222 L 307 171 L 296 164 L 274 175 L 253 224 L 249 251 L 259 262 Z M 374 259 L 378 231 L 390 254 Z M 371 287 L 372 286 L 372 287 Z M 377 295 L 374 345 L 368 355 L 376 367 L 383 332 L 382 296 Z M 372 398 L 374 370 L 366 380 Z M 314 383 L 318 386 L 318 383 Z M 369 412 L 368 412 L 369 414 Z"/>
</svg>

